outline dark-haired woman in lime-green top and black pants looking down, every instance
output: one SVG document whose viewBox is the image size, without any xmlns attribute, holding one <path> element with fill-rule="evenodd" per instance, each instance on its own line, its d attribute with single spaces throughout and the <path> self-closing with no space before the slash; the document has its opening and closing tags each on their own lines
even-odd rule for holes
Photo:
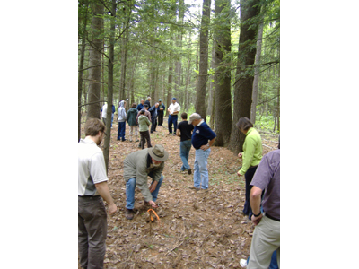
<svg viewBox="0 0 359 269">
<path fill-rule="evenodd" d="M 236 126 L 240 129 L 241 133 L 246 134 L 243 143 L 243 152 L 238 153 L 238 157 L 243 161 L 242 167 L 237 172 L 237 175 L 239 177 L 244 175 L 246 180 L 246 201 L 244 203 L 243 213 L 248 215 L 250 219 L 252 216 L 252 210 L 250 208 L 250 181 L 252 181 L 258 164 L 260 160 L 262 160 L 262 139 L 258 131 L 253 128 L 253 124 L 248 117 L 241 117 Z"/>
</svg>

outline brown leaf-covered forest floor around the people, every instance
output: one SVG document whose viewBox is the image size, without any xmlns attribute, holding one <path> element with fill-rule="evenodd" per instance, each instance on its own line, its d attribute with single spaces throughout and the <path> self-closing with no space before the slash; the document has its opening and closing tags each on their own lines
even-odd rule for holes
<svg viewBox="0 0 359 269">
<path fill-rule="evenodd" d="M 123 161 L 140 150 L 138 142 L 117 141 L 118 123 L 111 129 L 109 190 L 118 212 L 108 215 L 108 238 L 104 268 L 241 268 L 250 254 L 254 225 L 241 213 L 245 200 L 244 177 L 237 176 L 238 157 L 223 147 L 211 147 L 208 158 L 209 188 L 205 194 L 193 186 L 195 149 L 189 152 L 192 175 L 181 172 L 180 137 L 170 136 L 167 118 L 151 134 L 151 143 L 170 153 L 165 162 L 162 187 L 155 212 L 160 221 L 149 222 L 149 207 L 136 188 L 136 215 L 125 217 L 126 194 Z M 82 131 L 83 134 L 83 131 Z M 263 153 L 277 148 L 277 135 L 261 133 Z M 101 143 L 101 147 L 103 142 Z M 149 180 L 150 182 L 150 180 Z M 106 204 L 106 202 L 105 202 Z M 81 268 L 78 265 L 78 268 Z"/>
</svg>

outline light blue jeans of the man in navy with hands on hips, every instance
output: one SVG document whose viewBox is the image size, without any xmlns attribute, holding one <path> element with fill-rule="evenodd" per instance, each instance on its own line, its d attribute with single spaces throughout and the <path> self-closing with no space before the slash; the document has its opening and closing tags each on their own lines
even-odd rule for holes
<svg viewBox="0 0 359 269">
<path fill-rule="evenodd" d="M 203 151 L 201 149 L 196 150 L 196 159 L 193 173 L 193 181 L 195 187 L 199 187 L 200 185 L 202 185 L 202 189 L 208 188 L 207 159 L 209 153 L 211 153 L 210 148 L 206 151 Z"/>
</svg>

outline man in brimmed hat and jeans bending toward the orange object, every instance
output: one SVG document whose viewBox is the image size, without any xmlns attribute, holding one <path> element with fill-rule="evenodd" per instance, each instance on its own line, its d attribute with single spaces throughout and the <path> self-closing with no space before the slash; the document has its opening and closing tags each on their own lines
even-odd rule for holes
<svg viewBox="0 0 359 269">
<path fill-rule="evenodd" d="M 135 207 L 135 188 L 136 185 L 144 195 L 144 203 L 157 208 L 155 204 L 158 192 L 162 184 L 162 170 L 164 161 L 169 158 L 161 144 L 156 144 L 154 148 L 147 148 L 141 151 L 128 154 L 124 161 L 124 178 L 126 182 L 126 218 L 134 218 Z M 147 177 L 152 178 L 152 184 L 147 186 Z"/>
</svg>

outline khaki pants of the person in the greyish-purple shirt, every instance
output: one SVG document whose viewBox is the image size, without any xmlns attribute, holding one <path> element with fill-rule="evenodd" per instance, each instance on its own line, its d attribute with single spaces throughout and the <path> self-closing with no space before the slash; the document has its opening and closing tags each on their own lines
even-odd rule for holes
<svg viewBox="0 0 359 269">
<path fill-rule="evenodd" d="M 267 269 L 275 250 L 280 268 L 280 222 L 264 216 L 254 229 L 247 269 Z"/>
</svg>

